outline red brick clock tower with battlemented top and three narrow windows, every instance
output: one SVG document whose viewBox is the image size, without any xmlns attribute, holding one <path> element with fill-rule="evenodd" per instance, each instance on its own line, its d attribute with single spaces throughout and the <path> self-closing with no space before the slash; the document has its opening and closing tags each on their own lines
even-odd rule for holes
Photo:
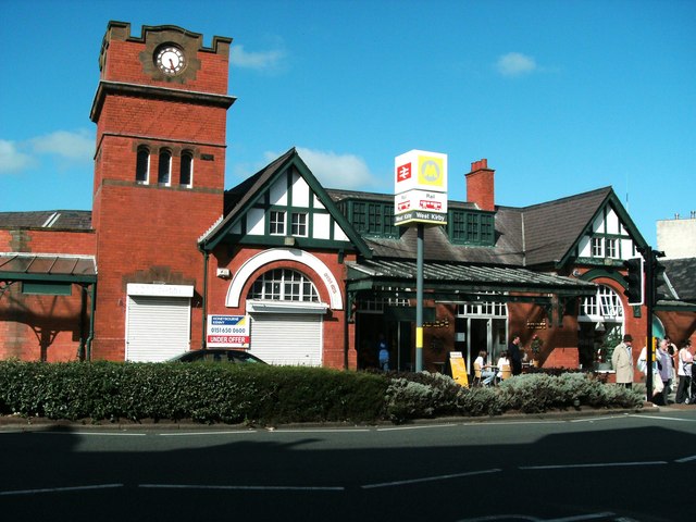
<svg viewBox="0 0 696 522">
<path fill-rule="evenodd" d="M 231 42 L 109 23 L 90 115 L 95 360 L 163 360 L 201 338 L 197 239 L 223 212 Z"/>
</svg>

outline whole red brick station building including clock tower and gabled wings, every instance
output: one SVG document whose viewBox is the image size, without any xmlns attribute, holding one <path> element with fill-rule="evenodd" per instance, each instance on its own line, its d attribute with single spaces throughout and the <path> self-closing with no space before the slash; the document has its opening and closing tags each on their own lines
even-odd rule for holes
<svg viewBox="0 0 696 522">
<path fill-rule="evenodd" d="M 221 316 L 272 363 L 371 366 L 384 334 L 393 365 L 413 368 L 417 228 L 395 226 L 393 195 L 328 190 L 294 148 L 224 189 L 231 42 L 109 24 L 92 210 L 0 213 L 0 358 L 162 361 L 206 346 Z M 646 241 L 610 187 L 509 208 L 486 160 L 462 177 L 468 201 L 424 232 L 425 369 L 496 357 L 512 332 L 567 368 L 645 339 L 623 260 Z M 685 338 L 695 310 L 672 295 L 660 321 Z"/>
</svg>

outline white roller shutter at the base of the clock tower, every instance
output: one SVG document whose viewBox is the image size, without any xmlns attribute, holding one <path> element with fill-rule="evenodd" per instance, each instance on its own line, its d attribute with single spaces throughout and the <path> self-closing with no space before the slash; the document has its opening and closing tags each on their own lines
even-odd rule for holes
<svg viewBox="0 0 696 522">
<path fill-rule="evenodd" d="M 189 298 L 128 296 L 127 361 L 161 362 L 189 348 Z"/>
</svg>

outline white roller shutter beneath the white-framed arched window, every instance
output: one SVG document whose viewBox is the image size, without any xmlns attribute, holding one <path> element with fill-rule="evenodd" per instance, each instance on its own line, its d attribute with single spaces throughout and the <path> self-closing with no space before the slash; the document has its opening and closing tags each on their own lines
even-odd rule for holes
<svg viewBox="0 0 696 522">
<path fill-rule="evenodd" d="M 320 314 L 251 314 L 249 351 L 269 364 L 322 365 Z"/>
</svg>

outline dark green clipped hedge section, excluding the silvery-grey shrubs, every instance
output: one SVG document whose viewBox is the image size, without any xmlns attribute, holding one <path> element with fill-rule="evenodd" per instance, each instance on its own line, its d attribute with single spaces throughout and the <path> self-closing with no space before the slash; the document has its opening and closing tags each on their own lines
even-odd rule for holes
<svg viewBox="0 0 696 522">
<path fill-rule="evenodd" d="M 374 422 L 381 375 L 302 366 L 0 361 L 0 413 L 203 423 Z"/>
</svg>

